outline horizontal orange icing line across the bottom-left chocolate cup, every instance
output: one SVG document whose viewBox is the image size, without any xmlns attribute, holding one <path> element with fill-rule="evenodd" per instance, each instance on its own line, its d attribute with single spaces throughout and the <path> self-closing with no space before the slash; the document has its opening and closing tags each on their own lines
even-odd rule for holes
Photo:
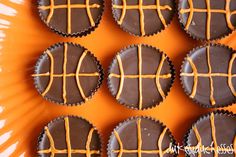
<svg viewBox="0 0 236 157">
<path fill-rule="evenodd" d="M 38 153 L 42 154 L 48 154 L 48 153 L 51 153 L 52 150 L 51 149 L 47 149 L 47 150 L 39 150 Z M 66 154 L 68 151 L 67 149 L 62 149 L 62 150 L 59 150 L 59 149 L 55 149 L 54 150 L 54 153 L 55 154 Z M 71 153 L 75 154 L 86 154 L 87 150 L 83 150 L 83 149 L 71 149 Z M 98 150 L 91 150 L 90 151 L 90 154 L 100 154 L 100 151 Z"/>
</svg>

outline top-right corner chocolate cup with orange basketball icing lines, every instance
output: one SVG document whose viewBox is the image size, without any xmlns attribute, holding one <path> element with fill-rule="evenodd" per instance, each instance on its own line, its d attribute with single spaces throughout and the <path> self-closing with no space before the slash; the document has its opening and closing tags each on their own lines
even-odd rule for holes
<svg viewBox="0 0 236 157">
<path fill-rule="evenodd" d="M 179 20 L 193 38 L 223 38 L 236 27 L 235 0 L 179 0 Z"/>
</svg>

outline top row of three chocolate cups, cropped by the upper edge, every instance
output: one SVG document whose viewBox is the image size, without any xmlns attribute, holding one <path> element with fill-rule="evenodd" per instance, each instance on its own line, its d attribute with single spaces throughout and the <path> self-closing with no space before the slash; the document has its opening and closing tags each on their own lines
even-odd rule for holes
<svg viewBox="0 0 236 157">
<path fill-rule="evenodd" d="M 132 35 L 150 36 L 164 30 L 176 12 L 175 0 L 112 0 L 117 24 Z M 63 36 L 85 36 L 98 27 L 103 0 L 38 0 L 41 19 Z M 179 0 L 178 16 L 184 30 L 199 40 L 230 34 L 236 25 L 236 2 L 230 0 Z"/>
</svg>

